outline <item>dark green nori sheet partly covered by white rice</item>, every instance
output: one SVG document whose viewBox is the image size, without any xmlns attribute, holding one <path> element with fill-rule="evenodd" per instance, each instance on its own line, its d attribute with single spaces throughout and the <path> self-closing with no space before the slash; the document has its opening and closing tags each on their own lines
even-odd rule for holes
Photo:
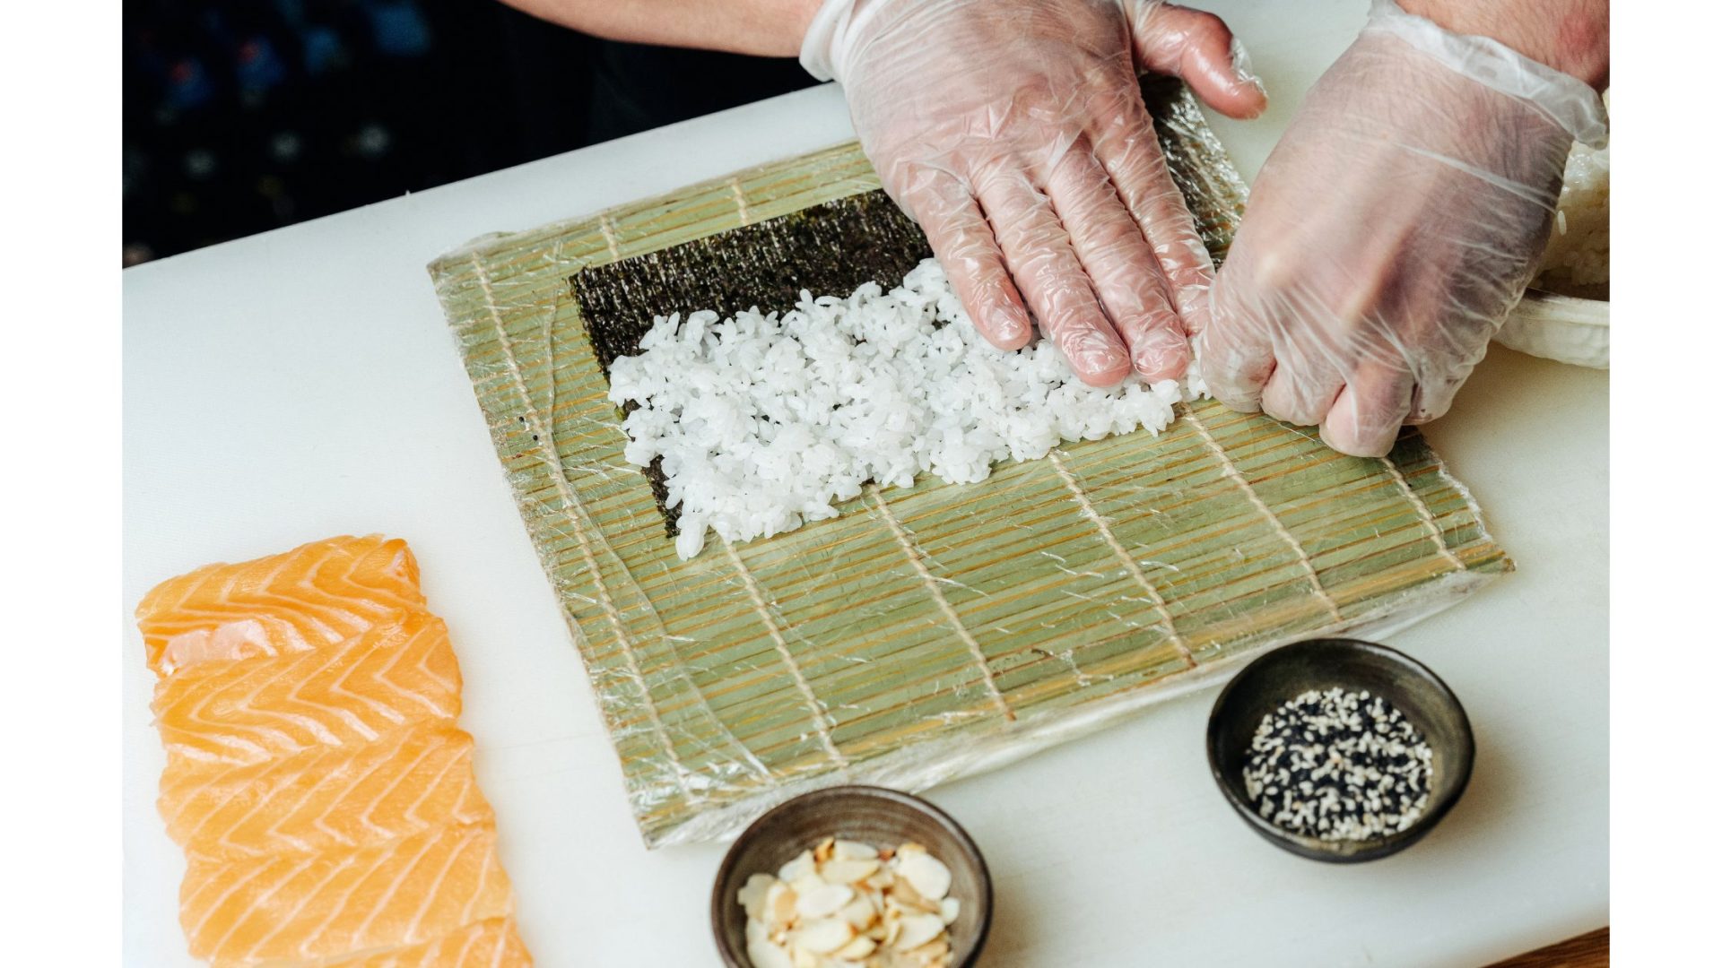
<svg viewBox="0 0 1722 968">
<path fill-rule="evenodd" d="M 1242 210 L 1216 207 L 1214 202 L 1228 195 L 1216 191 L 1207 179 L 1216 171 L 1230 172 L 1230 162 L 1224 148 L 1200 124 L 1195 103 L 1181 96 L 1181 91 L 1183 86 L 1174 79 L 1142 81 L 1142 98 L 1154 115 L 1173 183 L 1190 200 L 1202 241 L 1217 264 Z M 1199 124 L 1181 124 L 1185 112 L 1197 112 L 1193 121 Z M 1192 136 L 1192 131 L 1207 133 L 1207 140 Z M 1242 186 L 1226 188 L 1235 193 Z M 873 189 L 658 251 L 591 265 L 568 277 L 568 286 L 608 381 L 610 365 L 616 357 L 639 353 L 641 336 L 658 315 L 687 315 L 697 310 L 734 315 L 753 307 L 785 312 L 794 308 L 802 289 L 815 296 L 846 296 L 868 281 L 889 289 L 932 255 L 920 226 L 883 189 Z M 646 468 L 646 479 L 663 513 L 665 531 L 673 539 L 675 515 L 666 505 L 668 489 L 660 460 Z"/>
</svg>

